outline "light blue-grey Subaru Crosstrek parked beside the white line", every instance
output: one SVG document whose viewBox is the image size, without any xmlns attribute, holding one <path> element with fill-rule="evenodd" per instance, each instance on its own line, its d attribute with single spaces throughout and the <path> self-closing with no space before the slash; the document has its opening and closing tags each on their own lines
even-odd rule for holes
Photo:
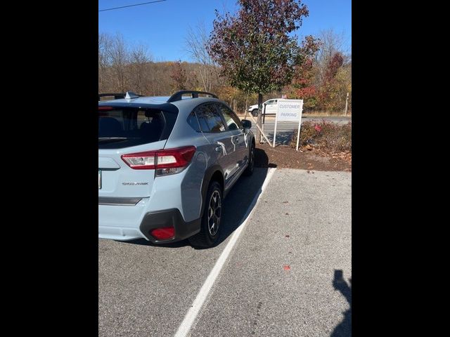
<svg viewBox="0 0 450 337">
<path fill-rule="evenodd" d="M 253 171 L 251 122 L 202 91 L 98 100 L 98 237 L 214 246 L 224 197 Z"/>
</svg>

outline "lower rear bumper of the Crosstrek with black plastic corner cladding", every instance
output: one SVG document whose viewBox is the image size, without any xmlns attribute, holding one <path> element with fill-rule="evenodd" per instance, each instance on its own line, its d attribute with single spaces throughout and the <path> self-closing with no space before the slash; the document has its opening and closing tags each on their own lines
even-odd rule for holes
<svg viewBox="0 0 450 337">
<path fill-rule="evenodd" d="M 183 216 L 181 216 L 179 209 L 150 211 L 144 214 L 139 227 L 99 225 L 98 237 L 100 239 L 113 239 L 118 241 L 146 239 L 155 244 L 177 242 L 200 232 L 200 223 L 201 218 L 186 222 Z M 168 240 L 157 240 L 150 235 L 150 230 L 161 227 L 174 227 L 175 236 Z"/>
</svg>

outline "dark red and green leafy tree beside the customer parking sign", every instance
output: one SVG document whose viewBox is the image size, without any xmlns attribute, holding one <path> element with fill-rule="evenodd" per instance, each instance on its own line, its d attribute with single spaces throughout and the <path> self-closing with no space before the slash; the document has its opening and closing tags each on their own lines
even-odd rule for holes
<svg viewBox="0 0 450 337">
<path fill-rule="evenodd" d="M 295 65 L 302 65 L 316 40 L 306 37 L 299 46 L 292 34 L 309 15 L 300 0 L 238 0 L 238 4 L 234 16 L 216 11 L 208 53 L 231 86 L 258 94 L 260 126 L 262 94 L 290 83 Z"/>
</svg>

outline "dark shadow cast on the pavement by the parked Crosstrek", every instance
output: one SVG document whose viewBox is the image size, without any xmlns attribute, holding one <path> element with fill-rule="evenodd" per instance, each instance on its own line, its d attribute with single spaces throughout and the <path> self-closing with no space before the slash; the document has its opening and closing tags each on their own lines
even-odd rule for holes
<svg viewBox="0 0 450 337">
<path fill-rule="evenodd" d="M 252 202 L 259 194 L 261 194 L 262 184 L 266 179 L 269 167 L 276 167 L 274 164 L 268 164 L 269 158 L 266 152 L 262 149 L 256 149 L 255 151 L 255 170 L 252 176 L 241 176 L 236 184 L 231 187 L 230 192 L 226 195 L 223 203 L 223 213 L 221 218 L 221 233 L 215 246 L 219 246 L 222 242 L 229 237 L 236 228 L 238 228 L 243 222 L 246 213 L 252 211 Z M 259 167 L 258 167 L 259 166 Z M 167 247 L 167 248 L 179 248 L 184 246 L 190 246 L 188 240 L 180 242 L 174 242 L 172 244 L 153 244 L 146 239 L 136 239 L 127 241 L 129 244 L 140 244 L 144 246 L 155 247 Z M 201 248 L 195 248 L 201 249 Z"/>
</svg>

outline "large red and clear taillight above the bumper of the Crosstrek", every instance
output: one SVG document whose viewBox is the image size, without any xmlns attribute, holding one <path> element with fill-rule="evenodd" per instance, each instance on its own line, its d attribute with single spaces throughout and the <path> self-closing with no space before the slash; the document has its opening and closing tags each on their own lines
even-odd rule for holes
<svg viewBox="0 0 450 337">
<path fill-rule="evenodd" d="M 195 146 L 176 149 L 122 154 L 122 160 L 131 169 L 156 170 L 157 176 L 179 173 L 186 169 L 195 153 Z"/>
</svg>

